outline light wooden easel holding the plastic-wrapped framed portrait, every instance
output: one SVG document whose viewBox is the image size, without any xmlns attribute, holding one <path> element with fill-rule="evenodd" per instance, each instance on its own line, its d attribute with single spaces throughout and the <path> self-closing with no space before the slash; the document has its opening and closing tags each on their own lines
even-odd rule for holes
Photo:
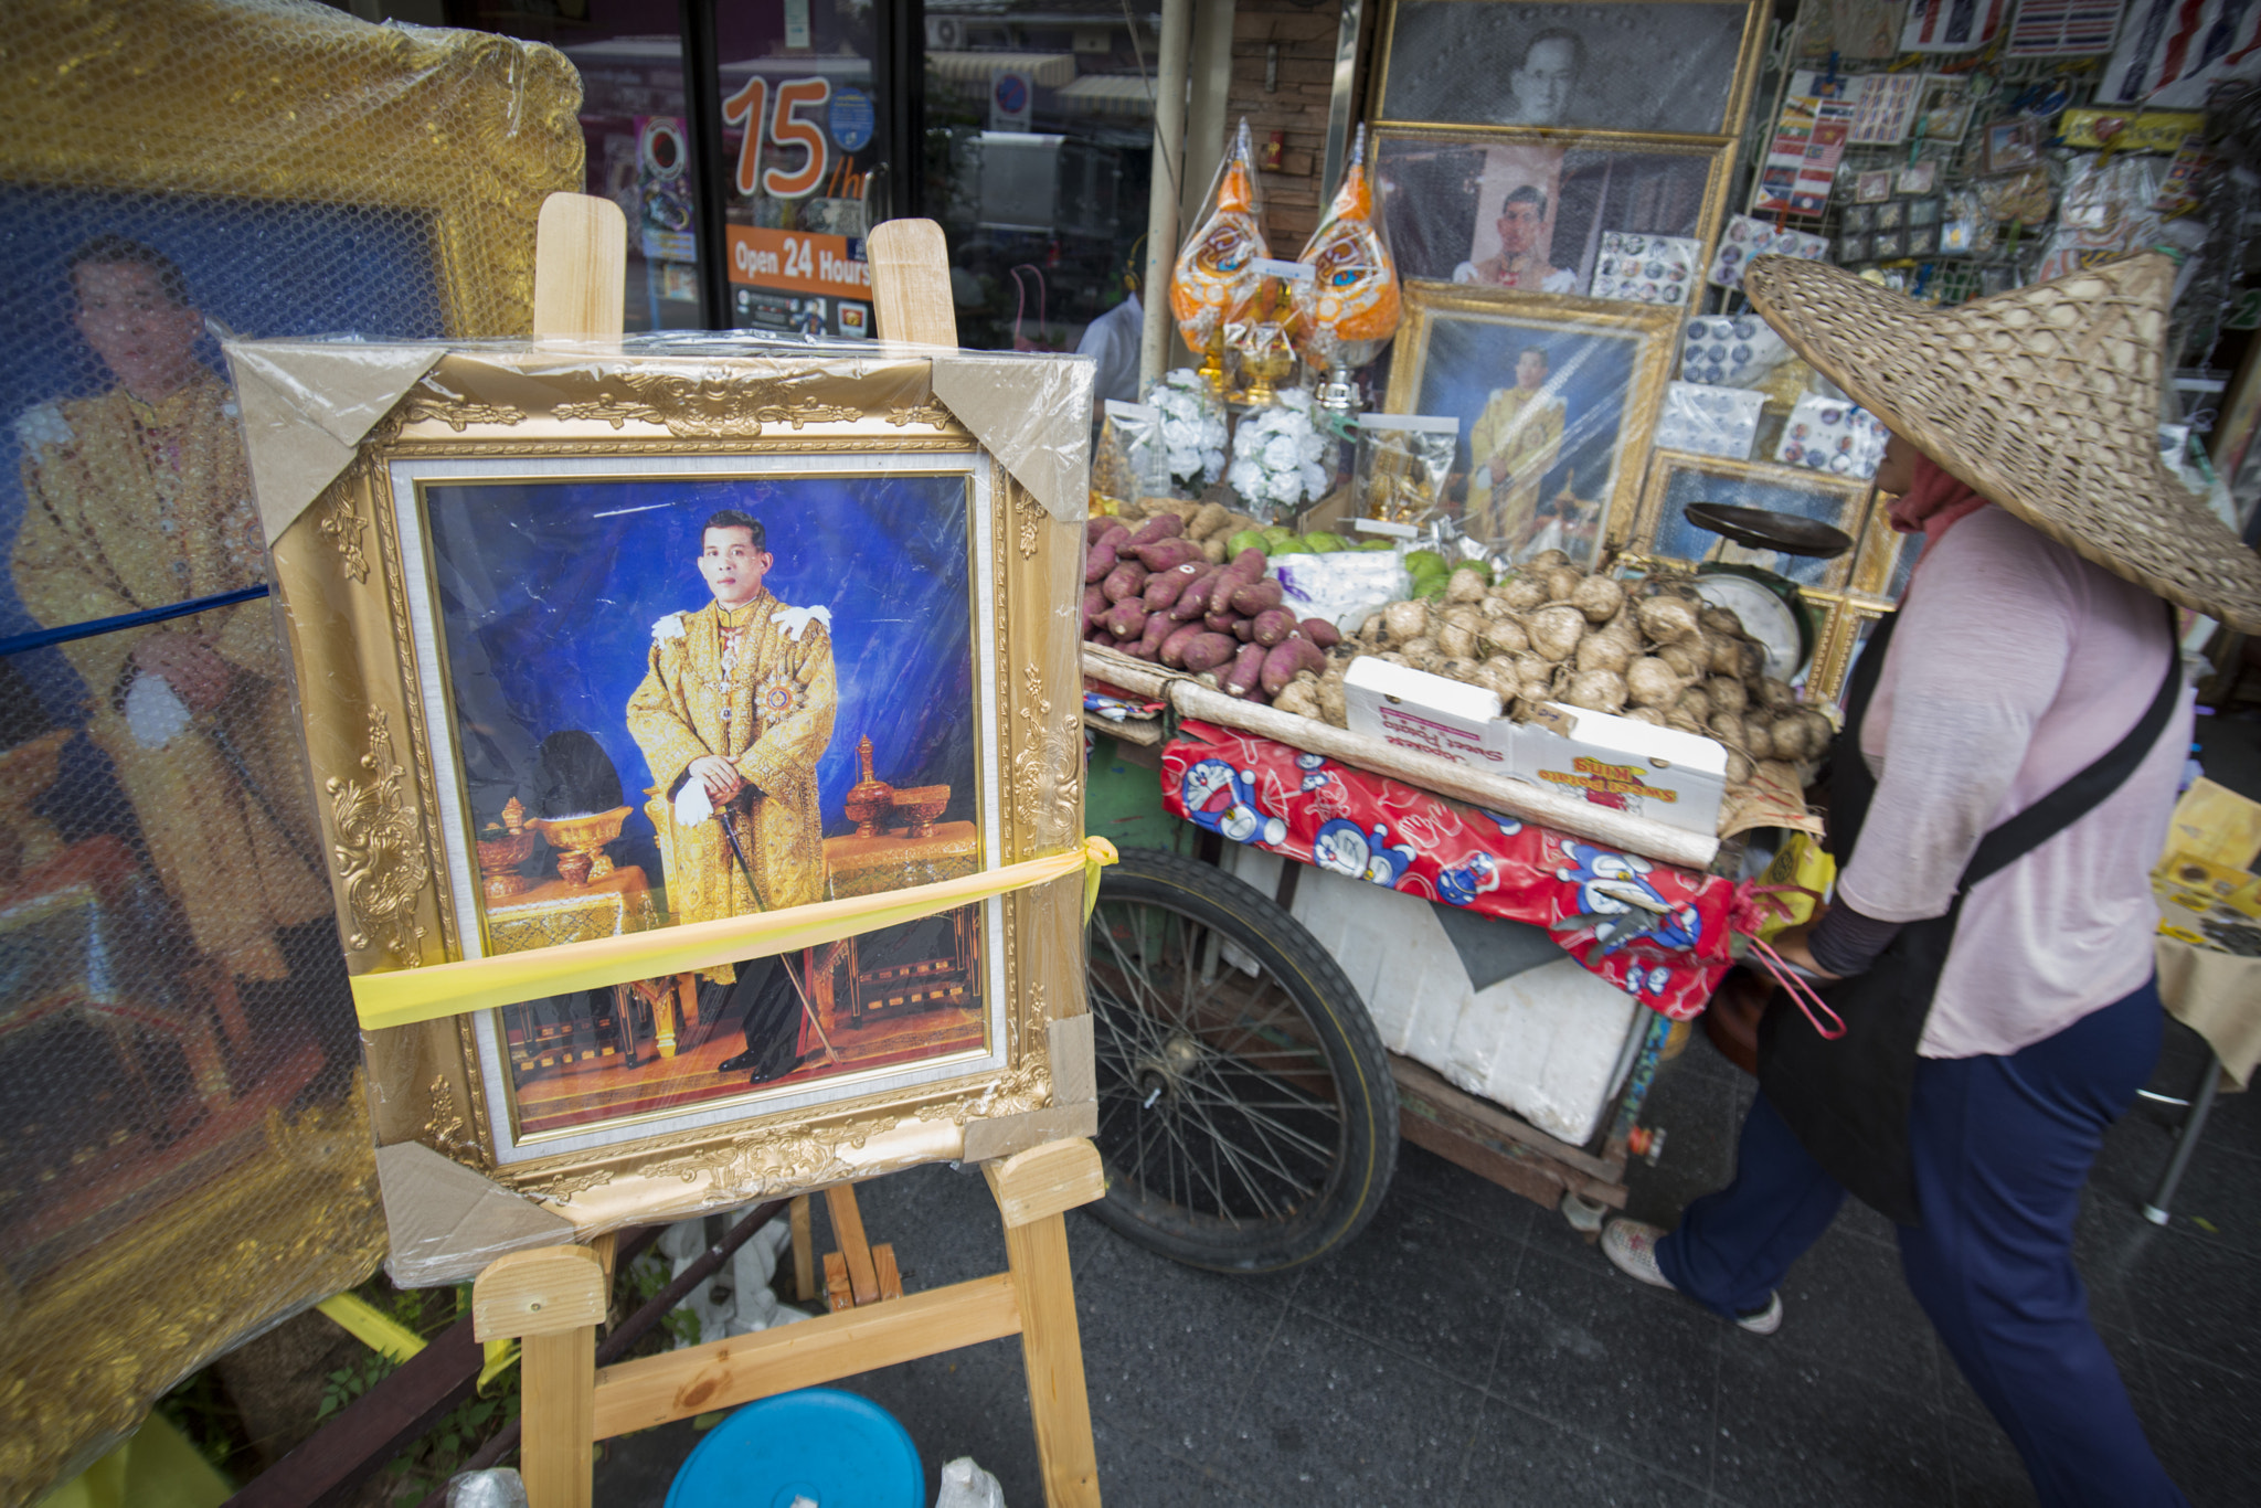
<svg viewBox="0 0 2261 1508">
<path fill-rule="evenodd" d="M 882 339 L 956 346 L 943 231 L 895 219 L 866 242 Z M 534 274 L 536 337 L 617 337 L 626 224 L 606 199 L 552 194 Z M 1099 1465 L 1065 1212 L 1106 1191 L 1099 1151 L 1049 1142 L 981 1164 L 1004 1223 L 1006 1271 L 902 1293 L 893 1248 L 870 1246 L 855 1187 L 825 1189 L 839 1241 L 825 1257 L 832 1314 L 597 1370 L 608 1264 L 588 1246 L 497 1257 L 473 1284 L 479 1341 L 520 1343 L 520 1474 L 531 1508 L 588 1508 L 592 1445 L 757 1397 L 809 1388 L 961 1345 L 1020 1336 L 1029 1413 L 1051 1508 L 1097 1508 Z M 794 1264 L 807 1293 L 809 1201 L 794 1201 Z"/>
</svg>

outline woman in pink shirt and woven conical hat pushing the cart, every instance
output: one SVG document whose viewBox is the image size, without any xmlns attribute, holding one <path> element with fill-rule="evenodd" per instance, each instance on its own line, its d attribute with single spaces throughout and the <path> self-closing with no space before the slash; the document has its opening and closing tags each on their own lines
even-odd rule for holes
<svg viewBox="0 0 2261 1508">
<path fill-rule="evenodd" d="M 2191 699 L 2162 597 L 2261 626 L 2261 561 L 2164 470 L 2173 269 L 2132 258 L 1924 310 L 1784 258 L 1752 305 L 1892 427 L 1892 527 L 1924 536 L 1847 685 L 1834 904 L 1775 947 L 1843 1022 L 1775 999 L 1734 1182 L 1621 1271 L 1743 1329 L 1845 1194 L 1902 1268 L 2042 1503 L 2182 1503 L 2087 1316 L 2080 1185 L 2159 1051 L 2150 866 Z M 1816 1013 L 1822 1024 L 1829 1013 Z"/>
</svg>

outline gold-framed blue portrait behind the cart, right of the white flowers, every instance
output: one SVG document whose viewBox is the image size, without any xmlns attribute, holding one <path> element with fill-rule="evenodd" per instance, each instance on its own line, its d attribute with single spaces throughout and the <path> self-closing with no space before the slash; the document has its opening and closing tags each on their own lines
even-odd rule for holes
<svg viewBox="0 0 2261 1508">
<path fill-rule="evenodd" d="M 1510 558 L 1630 538 L 1680 310 L 1409 280 L 1391 414 L 1461 421 L 1449 504 Z M 1490 454 L 1481 454 L 1488 450 Z"/>
</svg>

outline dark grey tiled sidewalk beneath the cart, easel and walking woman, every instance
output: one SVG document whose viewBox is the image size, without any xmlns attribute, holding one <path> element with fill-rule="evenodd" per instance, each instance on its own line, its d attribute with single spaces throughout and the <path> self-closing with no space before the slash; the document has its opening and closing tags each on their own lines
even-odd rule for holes
<svg viewBox="0 0 2261 1508">
<path fill-rule="evenodd" d="M 2202 1058 L 2168 1029 L 2155 1087 Z M 1671 1223 L 1723 1182 L 1750 1081 L 1698 1040 L 1657 1078 L 1655 1169 L 1632 1214 Z M 2139 1108 L 2105 1144 L 2080 1228 L 2091 1305 L 2159 1456 L 2193 1503 L 2261 1501 L 2261 1108 L 2225 1097 L 2171 1230 L 2137 1214 L 2168 1151 Z M 866 1185 L 913 1289 L 1004 1266 L 974 1173 Z M 2193 1219 L 2195 1216 L 2195 1219 Z M 2198 1221 L 2207 1221 L 2200 1225 Z M 1560 1216 L 1418 1149 L 1388 1205 L 1284 1277 L 1176 1266 L 1069 1216 L 1099 1470 L 1119 1508 L 1176 1503 L 2030 1503 L 2008 1440 L 1849 1205 L 1793 1271 L 1782 1334 L 1748 1336 L 1619 1277 Z M 843 1386 L 927 1458 L 970 1454 L 1040 1508 L 1017 1341 Z M 620 1440 L 597 1503 L 660 1503 L 687 1424 Z"/>
</svg>

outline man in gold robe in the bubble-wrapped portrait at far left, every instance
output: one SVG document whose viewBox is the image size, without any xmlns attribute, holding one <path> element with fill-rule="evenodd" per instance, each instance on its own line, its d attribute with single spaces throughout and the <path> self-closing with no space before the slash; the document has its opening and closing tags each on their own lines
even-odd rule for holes
<svg viewBox="0 0 2261 1508">
<path fill-rule="evenodd" d="M 25 608 L 66 626 L 258 586 L 267 545 L 235 398 L 197 359 L 203 317 L 181 269 L 104 235 L 68 276 L 72 321 L 115 387 L 16 421 Z M 237 979 L 287 979 L 278 934 L 328 920 L 330 889 L 271 606 L 97 633 L 63 656 L 197 947 Z"/>
</svg>

